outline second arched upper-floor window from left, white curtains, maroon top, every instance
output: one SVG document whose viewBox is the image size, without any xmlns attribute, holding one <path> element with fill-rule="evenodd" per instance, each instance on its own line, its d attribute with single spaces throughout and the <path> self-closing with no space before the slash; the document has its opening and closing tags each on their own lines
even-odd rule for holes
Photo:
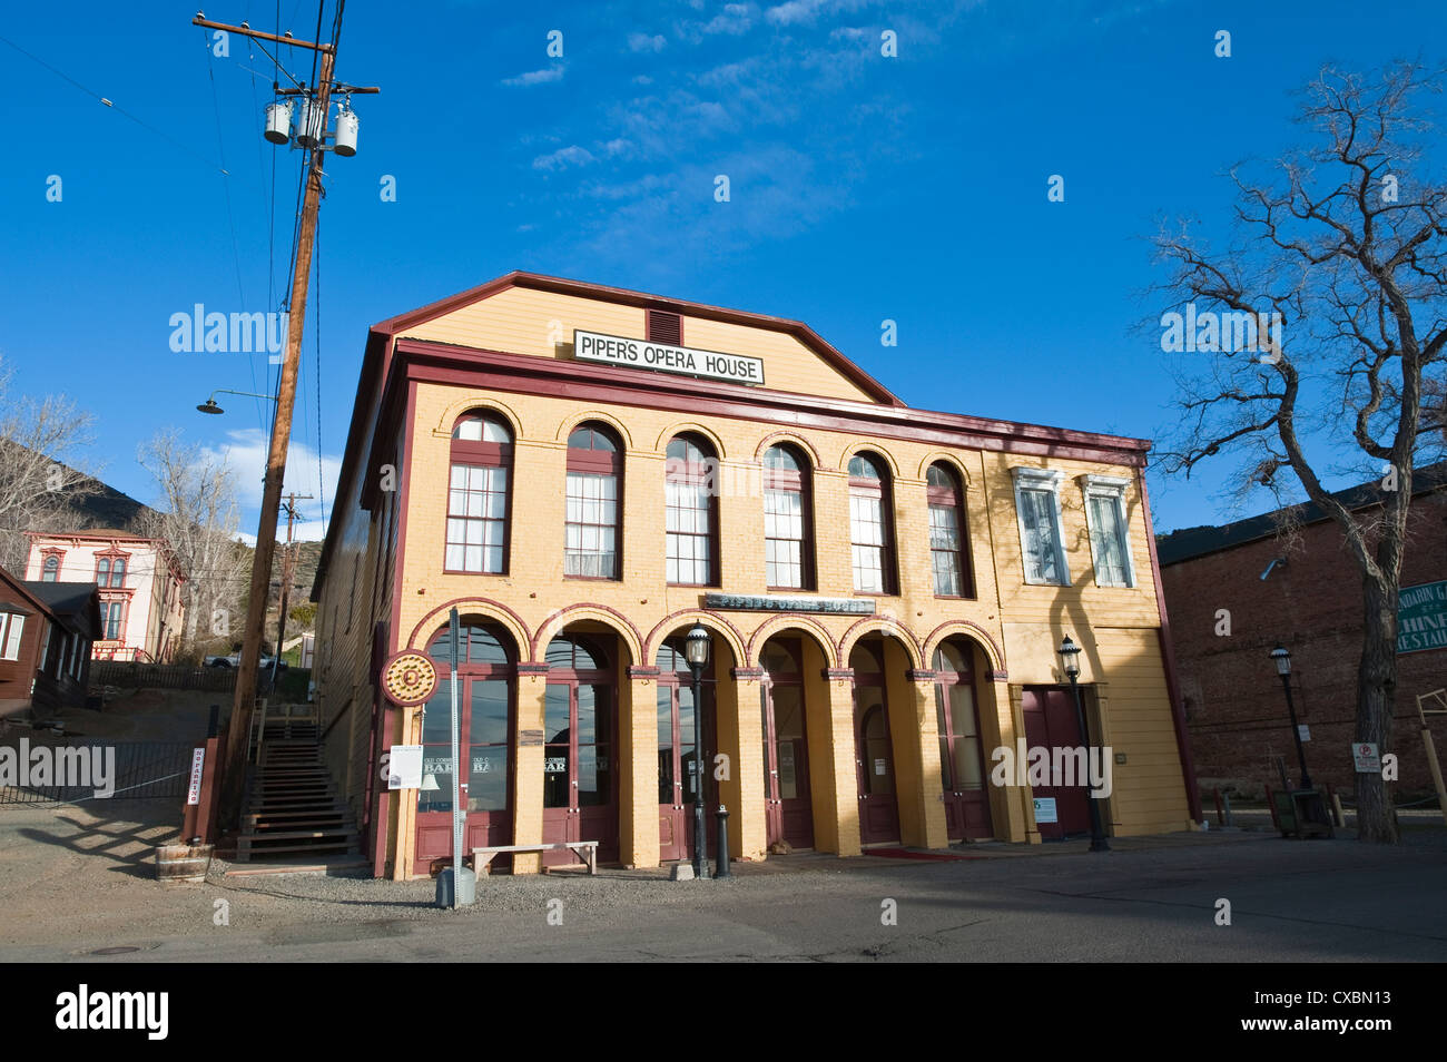
<svg viewBox="0 0 1447 1062">
<path fill-rule="evenodd" d="M 618 489 L 622 447 L 601 424 L 567 437 L 567 517 L 563 574 L 618 579 Z"/>
</svg>

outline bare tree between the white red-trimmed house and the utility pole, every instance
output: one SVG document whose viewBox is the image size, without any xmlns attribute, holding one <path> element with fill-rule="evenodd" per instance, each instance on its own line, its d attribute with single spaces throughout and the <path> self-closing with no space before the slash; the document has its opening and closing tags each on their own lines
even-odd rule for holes
<svg viewBox="0 0 1447 1062">
<path fill-rule="evenodd" d="M 249 551 L 236 540 L 236 485 L 224 460 L 175 430 L 142 443 L 136 459 L 159 488 L 159 505 L 142 517 L 145 534 L 165 538 L 185 576 L 184 655 L 210 642 L 230 645 L 230 621 L 240 616 Z"/>
</svg>

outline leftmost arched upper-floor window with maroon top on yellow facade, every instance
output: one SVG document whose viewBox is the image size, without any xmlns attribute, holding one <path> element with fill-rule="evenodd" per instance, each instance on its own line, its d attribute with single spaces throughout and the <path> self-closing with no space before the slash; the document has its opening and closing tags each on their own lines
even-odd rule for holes
<svg viewBox="0 0 1447 1062">
<path fill-rule="evenodd" d="M 449 572 L 508 570 L 508 479 L 512 431 L 495 414 L 469 412 L 453 427 L 447 483 Z"/>
</svg>

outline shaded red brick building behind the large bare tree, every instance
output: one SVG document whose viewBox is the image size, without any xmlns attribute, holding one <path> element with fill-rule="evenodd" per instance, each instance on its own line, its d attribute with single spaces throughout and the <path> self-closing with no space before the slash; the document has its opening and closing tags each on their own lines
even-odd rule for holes
<svg viewBox="0 0 1447 1062">
<path fill-rule="evenodd" d="M 1414 495 L 1404 587 L 1447 580 L 1447 464 L 1420 469 Z M 1353 488 L 1338 498 L 1367 515 L 1380 498 L 1379 485 Z M 1197 777 L 1202 793 L 1217 784 L 1246 791 L 1260 791 L 1262 784 L 1275 789 L 1281 784 L 1275 757 L 1282 757 L 1295 784 L 1286 702 L 1269 658 L 1279 642 L 1291 650 L 1298 721 L 1311 731 L 1305 745 L 1311 778 L 1349 794 L 1356 790 L 1350 745 L 1362 655 L 1362 580 L 1340 530 L 1315 506 L 1308 506 L 1292 538 L 1278 534 L 1275 517 L 1191 528 L 1159 540 Z M 1434 793 L 1417 696 L 1444 686 L 1447 648 L 1398 655 L 1395 748 L 1382 749 L 1398 755 L 1398 804 Z M 1447 718 L 1433 722 L 1433 736 L 1438 754 L 1447 757 Z"/>
</svg>

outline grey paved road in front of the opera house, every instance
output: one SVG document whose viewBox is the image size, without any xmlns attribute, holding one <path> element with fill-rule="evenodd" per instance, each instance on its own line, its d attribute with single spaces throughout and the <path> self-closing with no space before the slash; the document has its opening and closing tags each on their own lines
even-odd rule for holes
<svg viewBox="0 0 1447 1062">
<path fill-rule="evenodd" d="M 159 909 L 150 899 L 145 917 L 77 917 L 43 939 L 7 926 L 0 959 L 94 961 L 96 948 L 129 946 L 140 951 L 106 961 L 1447 961 L 1440 835 L 1386 849 L 1240 835 L 1104 855 L 796 865 L 726 883 L 496 877 L 456 913 L 431 906 L 430 883 L 226 880 L 171 890 Z M 230 925 L 214 925 L 217 900 Z M 884 925 L 890 900 L 896 925 Z M 1229 926 L 1215 923 L 1218 900 Z"/>
</svg>

